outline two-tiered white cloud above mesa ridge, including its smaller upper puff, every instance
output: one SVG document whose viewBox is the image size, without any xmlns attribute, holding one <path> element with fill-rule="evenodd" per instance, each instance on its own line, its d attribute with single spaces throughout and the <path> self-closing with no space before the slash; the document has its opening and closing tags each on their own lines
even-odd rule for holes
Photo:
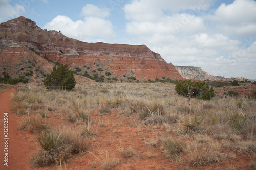
<svg viewBox="0 0 256 170">
<path fill-rule="evenodd" d="M 85 42 L 108 42 L 116 36 L 111 21 L 105 19 L 109 15 L 110 9 L 87 4 L 81 11 L 81 16 L 84 16 L 83 20 L 73 21 L 67 16 L 58 15 L 43 28 L 60 30 L 68 37 Z"/>
</svg>

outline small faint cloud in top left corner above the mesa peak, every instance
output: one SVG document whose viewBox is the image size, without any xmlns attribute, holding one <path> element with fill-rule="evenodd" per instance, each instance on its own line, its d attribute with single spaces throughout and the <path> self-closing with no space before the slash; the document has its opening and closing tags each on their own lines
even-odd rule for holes
<svg viewBox="0 0 256 170">
<path fill-rule="evenodd" d="M 0 23 L 9 19 L 19 17 L 25 12 L 24 6 L 15 4 L 12 6 L 9 4 L 10 0 L 0 1 Z"/>
</svg>

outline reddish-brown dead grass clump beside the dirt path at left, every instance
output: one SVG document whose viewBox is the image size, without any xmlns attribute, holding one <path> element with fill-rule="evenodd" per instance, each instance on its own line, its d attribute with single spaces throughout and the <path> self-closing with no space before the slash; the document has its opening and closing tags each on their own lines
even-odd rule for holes
<svg viewBox="0 0 256 170">
<path fill-rule="evenodd" d="M 37 133 L 47 129 L 47 123 L 44 123 L 43 119 L 37 115 L 30 117 L 24 117 L 19 130 L 26 130 L 29 133 Z"/>
</svg>

